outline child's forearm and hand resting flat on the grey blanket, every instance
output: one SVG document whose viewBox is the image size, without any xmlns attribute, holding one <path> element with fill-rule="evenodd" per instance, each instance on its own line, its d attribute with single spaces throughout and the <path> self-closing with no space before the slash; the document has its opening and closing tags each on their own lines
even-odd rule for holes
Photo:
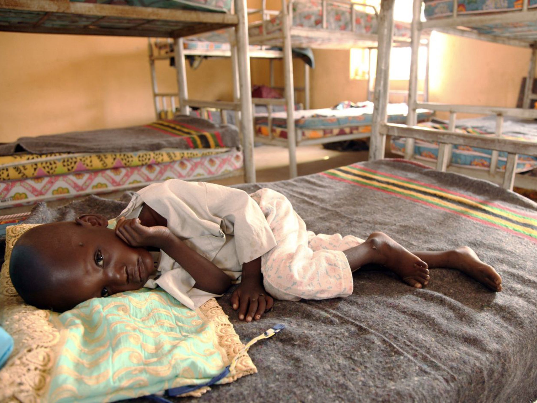
<svg viewBox="0 0 537 403">
<path fill-rule="evenodd" d="M 238 319 L 251 322 L 261 319 L 261 316 L 272 309 L 274 300 L 267 295 L 263 286 L 261 273 L 261 257 L 242 265 L 241 284 L 231 295 L 231 306 L 238 311 Z M 248 314 L 246 314 L 248 312 Z"/>
</svg>

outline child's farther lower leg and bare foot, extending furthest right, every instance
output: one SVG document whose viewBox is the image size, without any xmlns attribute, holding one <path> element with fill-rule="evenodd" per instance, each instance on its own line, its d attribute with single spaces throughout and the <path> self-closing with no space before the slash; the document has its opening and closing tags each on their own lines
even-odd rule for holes
<svg viewBox="0 0 537 403">
<path fill-rule="evenodd" d="M 492 291 L 502 291 L 502 277 L 492 266 L 483 263 L 474 250 L 467 246 L 446 251 L 418 251 L 414 254 L 427 262 L 431 269 L 458 269 Z"/>
</svg>

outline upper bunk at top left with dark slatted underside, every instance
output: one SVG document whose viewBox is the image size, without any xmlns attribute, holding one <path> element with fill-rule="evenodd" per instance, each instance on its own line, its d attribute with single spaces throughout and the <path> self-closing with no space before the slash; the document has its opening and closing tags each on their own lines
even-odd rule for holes
<svg viewBox="0 0 537 403">
<path fill-rule="evenodd" d="M 0 0 L 0 31 L 180 38 L 239 24 L 232 0 Z"/>
</svg>

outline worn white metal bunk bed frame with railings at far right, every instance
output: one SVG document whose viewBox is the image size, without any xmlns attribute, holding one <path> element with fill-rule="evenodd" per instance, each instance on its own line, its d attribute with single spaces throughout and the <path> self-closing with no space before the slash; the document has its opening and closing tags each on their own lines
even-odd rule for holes
<svg viewBox="0 0 537 403">
<path fill-rule="evenodd" d="M 408 96 L 409 114 L 407 123 L 405 125 L 398 125 L 388 124 L 386 121 L 389 54 L 391 49 L 391 32 L 393 30 L 394 0 L 382 0 L 379 19 L 379 23 L 381 24 L 379 26 L 379 57 L 374 91 L 375 111 L 373 114 L 369 160 L 382 159 L 384 157 L 387 135 L 407 138 L 405 143 L 405 159 L 411 159 L 415 139 L 437 141 L 439 143 L 439 152 L 436 168 L 440 171 L 447 170 L 449 159 L 451 159 L 451 147 L 454 144 L 487 148 L 492 150 L 490 172 L 487 179 L 501 184 L 505 189 L 512 190 L 515 180 L 518 154 L 537 156 L 537 143 L 504 139 L 500 136 L 502 135 L 503 121 L 506 116 L 522 119 L 537 118 L 537 110 L 527 109 L 531 99 L 537 99 L 537 96 L 532 94 L 531 91 L 537 59 L 537 42 L 535 39 L 525 38 L 524 35 L 521 37 L 517 37 L 516 35 L 489 35 L 477 32 L 476 30 L 471 30 L 468 27 L 498 23 L 528 23 L 537 20 L 537 10 L 529 10 L 528 0 L 524 0 L 521 9 L 516 11 L 498 11 L 488 15 L 459 16 L 456 12 L 457 4 L 457 1 L 454 0 L 454 13 L 452 18 L 421 21 L 422 0 L 414 0 L 413 2 L 413 19 L 411 25 L 412 57 Z M 463 37 L 532 49 L 528 77 L 524 89 L 523 106 L 525 109 L 417 102 L 417 57 L 420 35 L 422 31 L 433 29 L 450 34 L 461 35 Z M 439 131 L 436 129 L 416 126 L 416 110 L 418 108 L 449 112 L 448 130 Z M 456 113 L 458 112 L 496 116 L 496 136 L 493 138 L 484 138 L 482 136 L 455 132 L 455 119 Z M 498 161 L 498 153 L 500 151 L 507 153 L 507 162 L 503 178 L 496 176 L 496 164 Z M 534 182 L 535 181 L 533 181 L 532 178 L 529 178 L 529 180 L 524 181 L 521 186 L 535 189 Z"/>
</svg>

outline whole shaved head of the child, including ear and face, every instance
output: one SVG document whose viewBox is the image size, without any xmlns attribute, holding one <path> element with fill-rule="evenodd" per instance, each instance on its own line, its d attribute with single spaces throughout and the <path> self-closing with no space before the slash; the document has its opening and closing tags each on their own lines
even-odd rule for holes
<svg viewBox="0 0 537 403">
<path fill-rule="evenodd" d="M 63 312 L 85 300 L 141 288 L 153 258 L 95 214 L 28 229 L 15 243 L 9 275 L 27 304 Z"/>
</svg>

